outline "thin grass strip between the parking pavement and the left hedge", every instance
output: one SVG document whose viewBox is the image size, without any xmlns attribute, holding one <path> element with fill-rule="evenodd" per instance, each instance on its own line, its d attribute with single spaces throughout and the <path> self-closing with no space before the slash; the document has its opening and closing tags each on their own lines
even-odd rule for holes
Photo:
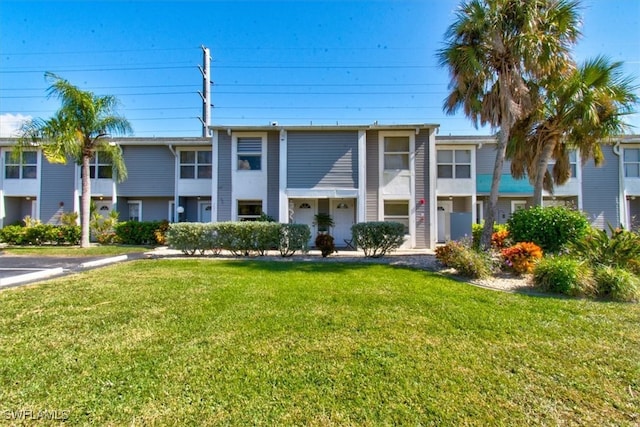
<svg viewBox="0 0 640 427">
<path fill-rule="evenodd" d="M 147 252 L 148 246 L 93 245 L 88 248 L 79 246 L 7 246 L 0 251 L 10 255 L 51 256 L 51 257 L 93 257 L 116 256 L 133 252 Z"/>
</svg>

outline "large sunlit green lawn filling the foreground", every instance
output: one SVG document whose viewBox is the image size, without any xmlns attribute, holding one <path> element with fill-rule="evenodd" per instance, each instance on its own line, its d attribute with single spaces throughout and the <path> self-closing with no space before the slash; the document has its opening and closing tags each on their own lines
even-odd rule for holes
<svg viewBox="0 0 640 427">
<path fill-rule="evenodd" d="M 384 265 L 143 260 L 0 292 L 0 414 L 637 425 L 640 307 Z"/>
</svg>

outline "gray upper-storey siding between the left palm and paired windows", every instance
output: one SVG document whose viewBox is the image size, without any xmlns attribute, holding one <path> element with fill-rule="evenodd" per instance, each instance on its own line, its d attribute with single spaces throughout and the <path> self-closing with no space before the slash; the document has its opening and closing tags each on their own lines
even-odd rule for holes
<svg viewBox="0 0 640 427">
<path fill-rule="evenodd" d="M 125 146 L 127 180 L 118 184 L 123 197 L 172 197 L 175 186 L 175 157 L 167 146 Z"/>
</svg>

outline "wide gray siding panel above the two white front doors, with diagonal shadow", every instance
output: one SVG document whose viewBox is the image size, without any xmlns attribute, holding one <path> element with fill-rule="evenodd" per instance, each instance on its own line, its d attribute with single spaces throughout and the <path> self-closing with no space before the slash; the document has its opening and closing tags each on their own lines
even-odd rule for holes
<svg viewBox="0 0 640 427">
<path fill-rule="evenodd" d="M 289 132 L 289 188 L 356 188 L 358 132 Z"/>
</svg>

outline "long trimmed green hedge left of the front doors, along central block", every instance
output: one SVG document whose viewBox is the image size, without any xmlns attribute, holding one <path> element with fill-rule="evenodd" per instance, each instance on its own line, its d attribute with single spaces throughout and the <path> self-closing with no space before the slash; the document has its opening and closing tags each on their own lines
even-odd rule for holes
<svg viewBox="0 0 640 427">
<path fill-rule="evenodd" d="M 186 255 L 206 251 L 228 250 L 236 256 L 264 255 L 277 249 L 283 257 L 296 251 L 307 251 L 311 236 L 304 224 L 280 224 L 277 222 L 180 222 L 171 224 L 166 233 L 167 244 Z"/>
</svg>

